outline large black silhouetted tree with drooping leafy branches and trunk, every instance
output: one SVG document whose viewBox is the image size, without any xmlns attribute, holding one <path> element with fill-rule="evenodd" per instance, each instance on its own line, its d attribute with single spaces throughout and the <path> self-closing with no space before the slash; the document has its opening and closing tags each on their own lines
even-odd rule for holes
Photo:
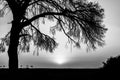
<svg viewBox="0 0 120 80">
<path fill-rule="evenodd" d="M 9 69 L 18 69 L 18 53 L 29 52 L 30 42 L 34 46 L 53 52 L 58 46 L 55 39 L 40 31 L 40 22 L 56 20 L 50 31 L 63 31 L 68 40 L 80 48 L 85 43 L 87 49 L 95 50 L 104 45 L 106 28 L 102 24 L 104 9 L 98 3 L 86 0 L 0 0 L 0 17 L 10 11 L 13 20 L 10 32 L 2 38 L 0 51 L 8 47 Z M 7 9 L 7 10 L 6 10 Z"/>
</svg>

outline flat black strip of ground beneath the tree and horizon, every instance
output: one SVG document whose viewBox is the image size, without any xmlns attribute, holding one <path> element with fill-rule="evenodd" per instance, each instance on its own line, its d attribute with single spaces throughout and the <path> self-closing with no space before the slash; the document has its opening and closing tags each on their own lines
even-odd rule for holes
<svg viewBox="0 0 120 80">
<path fill-rule="evenodd" d="M 11 71 L 8 69 L 0 70 L 0 80 L 8 78 L 10 80 L 105 80 L 106 78 L 119 78 L 117 73 L 119 70 L 116 69 L 18 69 L 16 71 Z M 7 80 L 8 80 L 7 79 Z M 108 80 L 107 79 L 107 80 Z"/>
</svg>

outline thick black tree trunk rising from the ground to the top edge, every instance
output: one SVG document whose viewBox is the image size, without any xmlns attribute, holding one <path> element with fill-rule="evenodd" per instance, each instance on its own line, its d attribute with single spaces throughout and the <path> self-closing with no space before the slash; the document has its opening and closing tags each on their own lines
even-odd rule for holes
<svg viewBox="0 0 120 80">
<path fill-rule="evenodd" d="M 18 69 L 18 44 L 19 44 L 19 33 L 22 30 L 21 19 L 25 15 L 26 8 L 23 8 L 21 4 L 16 0 L 6 0 L 13 14 L 13 22 L 10 35 L 10 45 L 8 48 L 9 69 Z"/>
</svg>

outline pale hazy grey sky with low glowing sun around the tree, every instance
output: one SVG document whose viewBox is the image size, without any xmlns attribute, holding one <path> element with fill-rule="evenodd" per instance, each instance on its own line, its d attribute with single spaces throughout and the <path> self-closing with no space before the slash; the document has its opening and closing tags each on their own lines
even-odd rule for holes
<svg viewBox="0 0 120 80">
<path fill-rule="evenodd" d="M 40 52 L 39 56 L 33 56 L 31 53 L 25 53 L 19 55 L 19 61 L 22 65 L 34 65 L 35 67 L 52 67 L 52 68 L 96 68 L 102 66 L 102 62 L 110 56 L 120 55 L 120 0 L 90 0 L 98 1 L 100 5 L 105 9 L 104 24 L 108 31 L 106 33 L 105 41 L 106 45 L 103 48 L 98 48 L 96 51 L 87 53 L 85 47 L 81 49 L 71 48 L 70 45 L 66 48 L 65 44 L 67 39 L 61 32 L 57 32 L 56 37 L 60 44 L 54 53 Z M 9 30 L 10 25 L 7 25 L 7 21 L 10 21 L 12 16 L 9 14 L 5 18 L 0 18 L 0 36 L 4 36 Z M 41 25 L 42 31 L 49 33 L 49 28 L 54 23 L 47 22 L 46 25 Z M 43 27 L 44 26 L 44 27 Z M 7 64 L 7 54 L 0 55 L 0 65 Z"/>
</svg>

